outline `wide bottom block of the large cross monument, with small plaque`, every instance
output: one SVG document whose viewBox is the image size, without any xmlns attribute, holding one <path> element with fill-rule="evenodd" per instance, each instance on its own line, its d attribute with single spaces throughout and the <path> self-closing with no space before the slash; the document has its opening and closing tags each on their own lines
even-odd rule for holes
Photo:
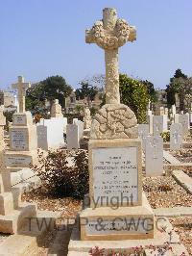
<svg viewBox="0 0 192 256">
<path fill-rule="evenodd" d="M 141 206 L 86 208 L 80 215 L 81 240 L 154 238 L 154 213 L 143 194 Z"/>
</svg>

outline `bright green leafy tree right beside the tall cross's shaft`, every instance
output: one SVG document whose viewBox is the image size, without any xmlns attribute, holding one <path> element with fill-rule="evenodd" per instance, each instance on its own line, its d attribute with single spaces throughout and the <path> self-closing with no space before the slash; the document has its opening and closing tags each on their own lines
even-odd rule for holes
<svg viewBox="0 0 192 256">
<path fill-rule="evenodd" d="M 141 81 L 126 74 L 119 75 L 121 103 L 129 106 L 136 115 L 138 123 L 146 122 L 146 107 L 150 99 L 148 87 Z"/>
</svg>

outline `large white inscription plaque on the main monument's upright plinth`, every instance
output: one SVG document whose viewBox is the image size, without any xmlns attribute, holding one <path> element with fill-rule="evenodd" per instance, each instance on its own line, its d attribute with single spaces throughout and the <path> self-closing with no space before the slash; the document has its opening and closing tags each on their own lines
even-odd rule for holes
<svg viewBox="0 0 192 256">
<path fill-rule="evenodd" d="M 93 148 L 92 165 L 95 202 L 111 205 L 116 200 L 127 206 L 138 202 L 137 147 Z"/>
</svg>

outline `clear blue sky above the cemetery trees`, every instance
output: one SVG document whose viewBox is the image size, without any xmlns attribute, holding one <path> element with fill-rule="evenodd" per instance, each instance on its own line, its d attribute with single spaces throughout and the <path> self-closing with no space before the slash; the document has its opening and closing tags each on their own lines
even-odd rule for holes
<svg viewBox="0 0 192 256">
<path fill-rule="evenodd" d="M 177 68 L 192 76 L 191 0 L 0 0 L 0 89 L 18 75 L 35 83 L 61 75 L 73 88 L 105 73 L 104 51 L 85 29 L 115 8 L 136 27 L 119 49 L 119 70 L 165 88 Z"/>
</svg>

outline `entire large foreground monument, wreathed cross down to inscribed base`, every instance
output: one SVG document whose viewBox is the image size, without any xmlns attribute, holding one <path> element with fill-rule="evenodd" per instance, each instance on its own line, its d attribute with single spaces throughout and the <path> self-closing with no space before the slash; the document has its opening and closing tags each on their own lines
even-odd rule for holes
<svg viewBox="0 0 192 256">
<path fill-rule="evenodd" d="M 81 213 L 82 240 L 153 238 L 146 231 L 154 214 L 142 194 L 141 141 L 132 110 L 120 104 L 118 48 L 135 39 L 134 27 L 106 8 L 103 20 L 86 30 L 86 42 L 105 50 L 106 105 L 93 117 L 88 143 L 90 207 Z M 114 211 L 115 208 L 115 211 Z M 126 228 L 125 219 L 139 221 L 138 229 Z M 84 223 L 86 219 L 86 223 Z M 99 221 L 105 228 L 98 228 Z"/>
</svg>

